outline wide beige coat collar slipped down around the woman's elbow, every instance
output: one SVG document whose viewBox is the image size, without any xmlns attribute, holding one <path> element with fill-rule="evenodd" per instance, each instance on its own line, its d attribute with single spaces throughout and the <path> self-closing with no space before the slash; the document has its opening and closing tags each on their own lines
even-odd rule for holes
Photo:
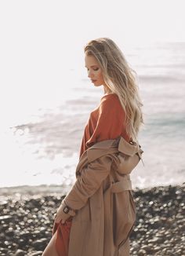
<svg viewBox="0 0 185 256">
<path fill-rule="evenodd" d="M 140 146 L 138 144 L 135 142 L 131 144 L 120 136 L 113 140 L 96 142 L 96 144 L 87 149 L 87 156 L 89 162 L 92 162 L 100 156 L 107 155 L 107 153 L 122 152 L 126 155 L 134 155 L 139 149 Z"/>
</svg>

